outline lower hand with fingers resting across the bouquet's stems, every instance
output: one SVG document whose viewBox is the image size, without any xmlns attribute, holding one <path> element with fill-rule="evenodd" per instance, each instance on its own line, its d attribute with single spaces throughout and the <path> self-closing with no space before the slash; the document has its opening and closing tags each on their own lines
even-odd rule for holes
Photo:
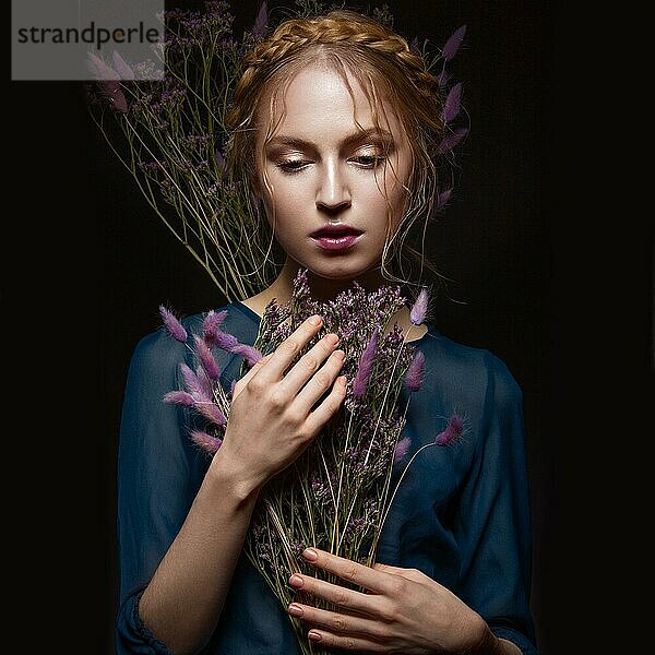
<svg viewBox="0 0 655 655">
<path fill-rule="evenodd" d="M 290 616 L 308 623 L 309 639 L 321 646 L 406 655 L 465 653 L 475 650 L 488 633 L 477 612 L 417 569 L 366 567 L 318 548 L 302 555 L 312 565 L 369 592 L 301 573 L 291 575 L 289 584 L 295 590 L 343 609 L 329 611 L 300 603 L 287 608 Z"/>
</svg>

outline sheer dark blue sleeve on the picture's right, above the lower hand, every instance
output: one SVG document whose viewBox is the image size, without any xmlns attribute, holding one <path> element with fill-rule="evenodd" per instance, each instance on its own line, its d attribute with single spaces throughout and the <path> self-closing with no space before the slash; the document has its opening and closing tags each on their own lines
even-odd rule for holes
<svg viewBox="0 0 655 655">
<path fill-rule="evenodd" d="M 529 611 L 531 510 L 522 392 L 507 367 L 485 353 L 480 433 L 454 534 L 461 548 L 462 599 L 499 638 L 536 655 Z"/>
</svg>

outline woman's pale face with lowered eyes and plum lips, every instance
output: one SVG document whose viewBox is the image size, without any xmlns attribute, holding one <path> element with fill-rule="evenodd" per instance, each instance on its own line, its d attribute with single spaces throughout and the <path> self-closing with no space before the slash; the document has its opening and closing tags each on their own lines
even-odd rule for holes
<svg viewBox="0 0 655 655">
<path fill-rule="evenodd" d="M 383 103 L 377 128 L 361 87 L 348 82 L 352 92 L 326 67 L 301 70 L 277 94 L 266 143 L 270 96 L 258 112 L 258 184 L 275 236 L 299 265 L 333 279 L 355 278 L 381 261 L 389 205 L 395 231 L 412 165 L 391 106 Z M 355 233 L 315 236 L 334 226 Z"/>
</svg>

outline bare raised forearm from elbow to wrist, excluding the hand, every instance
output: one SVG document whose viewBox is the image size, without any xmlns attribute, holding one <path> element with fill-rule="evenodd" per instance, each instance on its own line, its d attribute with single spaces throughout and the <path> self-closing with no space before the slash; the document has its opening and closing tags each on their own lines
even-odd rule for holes
<svg viewBox="0 0 655 655">
<path fill-rule="evenodd" d="M 234 467 L 216 460 L 221 451 L 139 606 L 145 627 L 178 655 L 199 651 L 211 636 L 258 496 Z"/>
</svg>

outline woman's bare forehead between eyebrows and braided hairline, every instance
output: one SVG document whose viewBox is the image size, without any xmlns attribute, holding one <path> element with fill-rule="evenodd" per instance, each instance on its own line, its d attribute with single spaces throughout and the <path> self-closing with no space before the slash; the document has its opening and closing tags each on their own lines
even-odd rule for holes
<svg viewBox="0 0 655 655">
<path fill-rule="evenodd" d="M 260 140 L 294 132 L 297 136 L 379 128 L 401 140 L 402 123 L 379 87 L 362 87 L 347 69 L 335 70 L 315 62 L 301 68 L 277 84 L 271 84 L 258 108 Z"/>
</svg>

